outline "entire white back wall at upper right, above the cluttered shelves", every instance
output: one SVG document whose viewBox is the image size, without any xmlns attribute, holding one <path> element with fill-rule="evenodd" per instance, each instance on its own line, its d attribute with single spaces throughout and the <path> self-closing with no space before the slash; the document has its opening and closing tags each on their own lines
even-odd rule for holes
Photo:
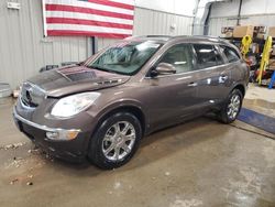
<svg viewBox="0 0 275 207">
<path fill-rule="evenodd" d="M 239 0 L 217 2 L 211 8 L 209 19 L 209 34 L 219 36 L 222 26 L 237 25 Z M 274 0 L 243 0 L 241 25 L 275 26 Z"/>
</svg>

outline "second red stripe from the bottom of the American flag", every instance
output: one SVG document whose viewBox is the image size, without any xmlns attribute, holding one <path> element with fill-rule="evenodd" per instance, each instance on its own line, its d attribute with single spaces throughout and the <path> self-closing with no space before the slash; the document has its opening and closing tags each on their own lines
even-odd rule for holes
<svg viewBox="0 0 275 207">
<path fill-rule="evenodd" d="M 118 29 L 127 29 L 127 30 L 133 29 L 133 25 L 129 25 L 129 24 L 118 24 L 118 23 L 111 23 L 111 22 L 100 22 L 100 21 L 94 21 L 94 20 L 81 20 L 81 19 L 73 19 L 73 18 L 47 18 L 46 22 L 50 24 L 62 23 L 62 24 L 96 25 L 96 26 L 103 26 L 103 28 L 118 28 Z"/>
</svg>

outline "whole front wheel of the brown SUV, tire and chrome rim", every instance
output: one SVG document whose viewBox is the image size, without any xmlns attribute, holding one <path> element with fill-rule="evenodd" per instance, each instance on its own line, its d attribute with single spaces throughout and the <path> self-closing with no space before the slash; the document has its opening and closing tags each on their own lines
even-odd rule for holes
<svg viewBox="0 0 275 207">
<path fill-rule="evenodd" d="M 107 118 L 90 142 L 89 159 L 100 168 L 117 168 L 131 160 L 139 148 L 142 129 L 130 112 L 118 112 Z"/>
</svg>

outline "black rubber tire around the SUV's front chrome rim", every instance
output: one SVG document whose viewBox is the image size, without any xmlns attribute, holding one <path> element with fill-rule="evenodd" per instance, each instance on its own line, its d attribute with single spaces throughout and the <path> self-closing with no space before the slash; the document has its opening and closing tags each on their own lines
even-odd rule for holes
<svg viewBox="0 0 275 207">
<path fill-rule="evenodd" d="M 114 128 L 113 126 L 117 126 L 117 123 L 119 123 L 119 126 L 120 126 L 119 128 L 121 128 L 121 124 L 123 127 L 123 122 L 131 123 L 132 124 L 132 126 L 130 124 L 131 130 L 134 128 L 134 132 L 135 132 L 134 143 L 132 144 L 131 151 L 128 149 L 129 154 L 127 154 L 123 159 L 120 159 L 120 160 L 108 159 L 107 157 L 108 155 L 105 155 L 105 152 L 103 152 L 103 150 L 105 150 L 103 144 L 106 142 L 108 142 L 105 140 L 107 138 L 106 134 L 109 133 L 111 130 L 116 131 L 117 128 Z M 116 135 L 116 134 L 117 133 L 114 132 L 114 134 L 110 135 L 109 138 L 111 138 L 112 140 L 114 140 L 114 137 L 117 138 L 116 140 L 120 139 L 118 137 L 121 137 L 121 135 Z M 99 128 L 96 130 L 96 133 L 94 134 L 94 137 L 90 140 L 88 157 L 95 165 L 97 165 L 98 167 L 103 168 L 103 170 L 112 170 L 112 168 L 120 167 L 120 166 L 124 165 L 125 163 L 128 163 L 131 160 L 131 157 L 134 155 L 134 153 L 136 152 L 136 150 L 139 148 L 141 138 L 142 138 L 142 128 L 141 128 L 141 123 L 140 123 L 139 119 L 130 112 L 124 112 L 124 111 L 117 112 L 117 113 L 106 118 L 102 121 L 102 123 L 99 126 Z M 116 141 L 116 142 L 118 142 L 118 141 Z M 131 142 L 131 141 L 129 141 L 129 142 Z M 113 142 L 110 141 L 110 146 L 113 143 L 114 143 L 114 141 Z M 127 142 L 124 142 L 124 143 L 127 143 Z M 117 144 L 119 144 L 119 143 L 117 143 Z M 122 146 L 119 146 L 119 148 L 121 148 L 119 153 L 121 152 L 121 150 L 123 152 Z M 116 148 L 116 149 L 118 149 L 118 148 Z M 113 156 L 116 156 L 116 153 L 117 153 L 116 149 L 113 149 Z M 127 151 L 124 151 L 124 152 L 127 153 Z M 109 152 L 109 154 L 110 153 L 112 153 L 112 151 Z"/>
</svg>

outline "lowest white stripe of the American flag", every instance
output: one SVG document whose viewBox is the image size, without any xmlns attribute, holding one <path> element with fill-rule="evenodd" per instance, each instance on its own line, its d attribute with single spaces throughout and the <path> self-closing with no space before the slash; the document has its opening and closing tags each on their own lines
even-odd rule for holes
<svg viewBox="0 0 275 207">
<path fill-rule="evenodd" d="M 47 24 L 47 30 L 65 30 L 65 31 L 73 30 L 73 31 L 102 32 L 102 33 L 128 34 L 128 35 L 132 34 L 132 30 L 80 25 L 80 24 Z"/>
</svg>

